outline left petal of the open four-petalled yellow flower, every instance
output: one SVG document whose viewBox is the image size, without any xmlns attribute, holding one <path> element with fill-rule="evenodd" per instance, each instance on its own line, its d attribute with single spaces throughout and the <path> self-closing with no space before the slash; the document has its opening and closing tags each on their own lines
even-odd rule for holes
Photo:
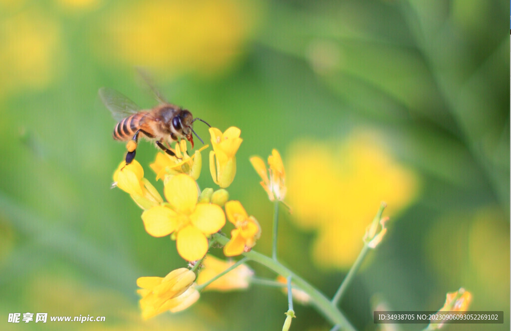
<svg viewBox="0 0 511 331">
<path fill-rule="evenodd" d="M 176 216 L 176 213 L 167 207 L 155 206 L 142 213 L 142 220 L 148 234 L 163 237 L 176 230 Z"/>
</svg>

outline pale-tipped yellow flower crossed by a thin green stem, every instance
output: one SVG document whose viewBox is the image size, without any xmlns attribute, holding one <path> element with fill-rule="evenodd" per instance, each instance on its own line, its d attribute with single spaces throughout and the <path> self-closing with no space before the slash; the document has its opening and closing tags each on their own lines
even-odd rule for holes
<svg viewBox="0 0 511 331">
<path fill-rule="evenodd" d="M 206 283 L 233 264 L 234 261 L 220 260 L 210 254 L 207 254 L 206 258 L 202 260 L 202 269 L 197 277 L 197 284 L 201 285 Z M 246 289 L 250 285 L 249 279 L 252 275 L 253 271 L 246 265 L 242 264 L 206 286 L 204 290 L 231 291 Z"/>
</svg>

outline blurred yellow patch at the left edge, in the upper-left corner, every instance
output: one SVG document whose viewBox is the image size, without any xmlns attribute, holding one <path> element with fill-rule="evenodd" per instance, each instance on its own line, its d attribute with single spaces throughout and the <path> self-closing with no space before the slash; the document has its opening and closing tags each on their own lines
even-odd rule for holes
<svg viewBox="0 0 511 331">
<path fill-rule="evenodd" d="M 0 97 L 45 89 L 64 65 L 60 26 L 37 5 L 29 7 L 8 15 L 0 26 Z"/>
</svg>

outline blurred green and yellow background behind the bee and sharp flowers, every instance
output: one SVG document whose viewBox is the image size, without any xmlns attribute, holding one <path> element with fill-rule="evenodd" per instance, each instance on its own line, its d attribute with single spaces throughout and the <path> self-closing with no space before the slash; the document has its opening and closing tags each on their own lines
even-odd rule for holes
<svg viewBox="0 0 511 331">
<path fill-rule="evenodd" d="M 281 214 L 280 260 L 326 295 L 387 201 L 387 236 L 340 304 L 357 329 L 377 329 L 377 304 L 432 311 L 464 287 L 471 310 L 504 311 L 504 324 L 446 329 L 508 330 L 509 37 L 497 29 L 508 10 L 492 0 L 0 0 L 0 328 L 282 327 L 286 297 L 255 285 L 141 320 L 136 278 L 185 264 L 110 189 L 125 146 L 97 91 L 154 106 L 136 78 L 143 66 L 173 103 L 241 129 L 229 193 L 261 223 L 263 253 L 273 208 L 248 158 L 281 152 L 294 213 Z M 154 157 L 142 143 L 153 183 Z M 204 159 L 198 182 L 214 187 Z M 311 307 L 295 311 L 293 330 L 332 327 Z M 16 312 L 106 322 L 7 323 Z"/>
</svg>

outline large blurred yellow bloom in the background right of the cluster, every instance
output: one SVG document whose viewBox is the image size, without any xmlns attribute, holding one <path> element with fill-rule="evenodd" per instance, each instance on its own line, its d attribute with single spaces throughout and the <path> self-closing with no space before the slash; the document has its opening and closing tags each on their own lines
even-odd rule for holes
<svg viewBox="0 0 511 331">
<path fill-rule="evenodd" d="M 293 221 L 314 230 L 313 258 L 324 268 L 347 269 L 355 261 L 366 224 L 382 200 L 396 215 L 417 194 L 417 177 L 394 160 L 381 137 L 355 131 L 341 145 L 296 141 L 290 148 L 288 198 Z"/>
</svg>

